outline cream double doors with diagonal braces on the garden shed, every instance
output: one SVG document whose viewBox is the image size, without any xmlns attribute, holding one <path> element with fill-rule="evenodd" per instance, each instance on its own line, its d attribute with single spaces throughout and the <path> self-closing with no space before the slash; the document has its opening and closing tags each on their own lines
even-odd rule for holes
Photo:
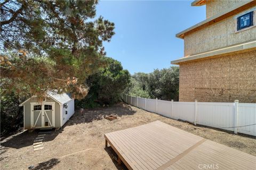
<svg viewBox="0 0 256 170">
<path fill-rule="evenodd" d="M 54 103 L 31 103 L 31 128 L 54 127 Z"/>
</svg>

